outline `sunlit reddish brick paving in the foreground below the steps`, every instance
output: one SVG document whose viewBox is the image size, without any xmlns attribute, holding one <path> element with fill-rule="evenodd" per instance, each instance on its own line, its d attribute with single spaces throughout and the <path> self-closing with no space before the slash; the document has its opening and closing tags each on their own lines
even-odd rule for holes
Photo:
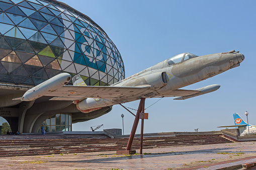
<svg viewBox="0 0 256 170">
<path fill-rule="evenodd" d="M 1 157 L 0 169 L 216 169 L 223 167 L 223 163 L 232 165 L 235 160 L 256 161 L 255 144 L 252 141 L 161 147 L 144 149 L 143 155 L 116 155 L 115 151 L 107 151 Z"/>
</svg>

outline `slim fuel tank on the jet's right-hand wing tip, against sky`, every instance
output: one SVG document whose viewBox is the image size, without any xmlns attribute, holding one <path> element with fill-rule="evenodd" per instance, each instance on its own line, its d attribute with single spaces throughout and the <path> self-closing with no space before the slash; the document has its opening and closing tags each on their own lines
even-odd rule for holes
<svg viewBox="0 0 256 170">
<path fill-rule="evenodd" d="M 205 86 L 205 87 L 201 87 L 199 89 L 196 89 L 198 91 L 201 91 L 199 93 L 196 93 L 196 94 L 192 94 L 192 95 L 188 95 L 188 96 L 179 96 L 179 97 L 175 97 L 174 100 L 185 100 L 185 99 L 189 99 L 189 98 L 192 98 L 192 97 L 196 97 L 196 96 L 200 96 L 200 95 L 203 95 L 203 94 L 207 94 L 207 93 L 211 93 L 213 91 L 216 91 L 220 88 L 220 85 L 218 84 L 212 84 L 212 85 L 209 85 L 209 86 Z"/>
</svg>

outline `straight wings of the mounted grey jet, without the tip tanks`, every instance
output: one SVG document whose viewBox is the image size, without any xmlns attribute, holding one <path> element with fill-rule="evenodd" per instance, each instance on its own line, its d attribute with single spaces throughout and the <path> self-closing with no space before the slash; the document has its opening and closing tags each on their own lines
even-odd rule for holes
<svg viewBox="0 0 256 170">
<path fill-rule="evenodd" d="M 63 86 L 44 94 L 53 96 L 50 100 L 79 100 L 84 98 L 102 98 L 126 100 L 131 98 L 151 98 L 151 97 L 175 97 L 195 94 L 196 90 L 169 90 L 164 94 L 157 93 L 150 85 L 139 87 L 116 87 L 116 86 Z"/>
</svg>

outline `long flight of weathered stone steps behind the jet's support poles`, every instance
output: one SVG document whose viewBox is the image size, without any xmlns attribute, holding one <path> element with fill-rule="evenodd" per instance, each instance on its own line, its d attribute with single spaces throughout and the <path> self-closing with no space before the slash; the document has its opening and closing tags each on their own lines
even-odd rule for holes
<svg viewBox="0 0 256 170">
<path fill-rule="evenodd" d="M 81 153 L 125 150 L 128 138 L 91 135 L 0 135 L 0 157 L 41 154 Z M 202 145 L 232 142 L 221 135 L 179 135 L 145 137 L 143 148 Z M 134 138 L 132 149 L 139 149 L 140 138 Z"/>
</svg>

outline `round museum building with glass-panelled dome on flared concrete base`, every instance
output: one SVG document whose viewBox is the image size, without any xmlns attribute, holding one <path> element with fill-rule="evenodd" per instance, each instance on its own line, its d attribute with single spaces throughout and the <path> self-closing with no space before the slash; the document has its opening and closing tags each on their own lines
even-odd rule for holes
<svg viewBox="0 0 256 170">
<path fill-rule="evenodd" d="M 119 51 L 88 16 L 55 0 L 0 0 L 0 116 L 21 133 L 71 131 L 72 123 L 111 111 L 80 112 L 72 101 L 12 100 L 59 73 L 79 74 L 87 85 L 125 78 Z M 72 82 L 69 82 L 72 85 Z"/>
</svg>

